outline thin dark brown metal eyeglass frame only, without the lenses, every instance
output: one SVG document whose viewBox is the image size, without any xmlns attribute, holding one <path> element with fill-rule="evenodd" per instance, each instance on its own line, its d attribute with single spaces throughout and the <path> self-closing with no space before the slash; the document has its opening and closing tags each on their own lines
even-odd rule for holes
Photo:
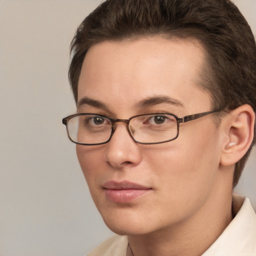
<svg viewBox="0 0 256 256">
<path fill-rule="evenodd" d="M 160 144 L 160 143 L 165 143 L 165 142 L 168 142 L 168 141 L 171 141 L 171 140 L 174 140 L 178 137 L 178 134 L 179 134 L 179 124 L 180 123 L 183 123 L 183 122 L 188 122 L 188 121 L 191 121 L 191 120 L 195 120 L 197 118 L 200 118 L 200 117 L 203 117 L 205 115 L 208 115 L 208 114 L 211 114 L 211 113 L 215 113 L 215 112 L 219 112 L 220 110 L 211 110 L 211 111 L 206 111 L 206 112 L 201 112 L 201 113 L 196 113 L 196 114 L 189 114 L 189 115 L 185 115 L 183 117 L 178 117 L 177 115 L 175 114 L 172 114 L 172 113 L 147 113 L 147 114 L 138 114 L 138 115 L 133 115 L 131 116 L 129 119 L 120 119 L 120 118 L 112 118 L 112 117 L 108 117 L 108 116 L 105 116 L 105 115 L 102 115 L 102 114 L 96 114 L 96 113 L 75 113 L 75 114 L 71 114 L 71 115 L 68 115 L 66 117 L 64 117 L 62 119 L 62 123 L 66 126 L 66 131 L 67 131 L 67 136 L 68 138 L 75 144 L 79 144 L 79 145 L 102 145 L 102 144 L 106 144 L 107 142 L 110 141 L 111 137 L 113 136 L 114 134 L 114 131 L 116 129 L 116 125 L 115 123 L 116 122 L 123 122 L 126 124 L 126 128 L 128 130 L 128 133 L 130 135 L 130 137 L 137 143 L 139 144 Z M 71 138 L 70 134 L 69 134 L 69 131 L 68 131 L 68 120 L 75 117 L 75 116 L 79 116 L 79 115 L 87 115 L 87 114 L 93 114 L 93 115 L 96 115 L 96 116 L 99 116 L 99 117 L 103 117 L 103 118 L 107 118 L 110 120 L 111 122 L 111 134 L 109 136 L 109 138 L 104 141 L 104 142 L 100 142 L 100 143 L 93 143 L 93 144 L 88 144 L 88 143 L 82 143 L 82 142 L 78 142 L 78 141 L 75 141 Z M 134 119 L 136 117 L 139 117 L 139 116 L 143 116 L 143 115 L 161 115 L 161 114 L 169 114 L 169 115 L 172 115 L 175 117 L 176 121 L 177 121 L 177 135 L 174 137 L 174 138 L 171 138 L 171 139 L 168 139 L 168 140 L 164 140 L 164 141 L 160 141 L 160 142 L 139 142 L 137 141 L 131 134 L 131 131 L 129 130 L 129 122 L 131 119 Z"/>
</svg>

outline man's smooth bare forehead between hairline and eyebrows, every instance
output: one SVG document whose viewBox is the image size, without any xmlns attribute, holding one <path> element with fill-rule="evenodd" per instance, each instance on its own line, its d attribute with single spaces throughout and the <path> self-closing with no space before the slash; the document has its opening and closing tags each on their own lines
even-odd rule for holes
<svg viewBox="0 0 256 256">
<path fill-rule="evenodd" d="M 148 37 L 103 41 L 91 46 L 85 55 L 78 101 L 89 97 L 121 106 L 164 95 L 185 107 L 191 99 L 198 103 L 198 96 L 208 102 L 208 93 L 198 86 L 203 62 L 203 47 L 195 40 Z"/>
</svg>

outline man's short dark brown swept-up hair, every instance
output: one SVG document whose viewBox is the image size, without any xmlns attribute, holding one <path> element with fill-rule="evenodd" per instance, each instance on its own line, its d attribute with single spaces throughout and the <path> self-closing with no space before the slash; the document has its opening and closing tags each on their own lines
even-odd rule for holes
<svg viewBox="0 0 256 256">
<path fill-rule="evenodd" d="M 205 49 L 200 86 L 212 108 L 230 111 L 242 104 L 256 110 L 256 45 L 250 26 L 230 0 L 105 0 L 78 26 L 70 45 L 68 78 L 77 86 L 88 48 L 105 40 L 159 35 L 199 41 Z M 237 184 L 253 142 L 235 164 Z"/>
</svg>

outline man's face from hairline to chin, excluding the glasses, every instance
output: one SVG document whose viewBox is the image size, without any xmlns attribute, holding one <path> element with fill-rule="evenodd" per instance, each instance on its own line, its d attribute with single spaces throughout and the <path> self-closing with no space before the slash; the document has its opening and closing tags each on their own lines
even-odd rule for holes
<svg viewBox="0 0 256 256">
<path fill-rule="evenodd" d="M 90 47 L 78 83 L 78 112 L 125 118 L 211 110 L 197 85 L 199 43 L 159 37 L 104 41 Z M 192 221 L 217 191 L 219 134 L 212 114 L 181 123 L 175 140 L 139 144 L 117 123 L 102 145 L 77 145 L 78 160 L 106 225 L 119 234 L 145 234 Z"/>
</svg>

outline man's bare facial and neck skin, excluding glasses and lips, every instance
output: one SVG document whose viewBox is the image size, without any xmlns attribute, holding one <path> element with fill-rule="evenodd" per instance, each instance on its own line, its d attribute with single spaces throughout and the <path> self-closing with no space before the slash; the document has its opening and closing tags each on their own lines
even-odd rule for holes
<svg viewBox="0 0 256 256">
<path fill-rule="evenodd" d="M 83 61 L 77 111 L 126 119 L 209 111 L 210 95 L 197 84 L 203 62 L 196 41 L 150 37 L 95 44 Z M 138 104 L 155 96 L 174 100 Z M 85 103 L 84 97 L 102 104 Z M 229 142 L 224 124 L 217 127 L 209 114 L 180 124 L 173 141 L 143 145 L 118 123 L 108 143 L 76 146 L 97 209 L 112 231 L 128 235 L 134 256 L 201 255 L 231 221 L 234 164 L 221 164 Z M 109 180 L 150 189 L 131 202 L 115 203 L 102 187 Z"/>
</svg>

